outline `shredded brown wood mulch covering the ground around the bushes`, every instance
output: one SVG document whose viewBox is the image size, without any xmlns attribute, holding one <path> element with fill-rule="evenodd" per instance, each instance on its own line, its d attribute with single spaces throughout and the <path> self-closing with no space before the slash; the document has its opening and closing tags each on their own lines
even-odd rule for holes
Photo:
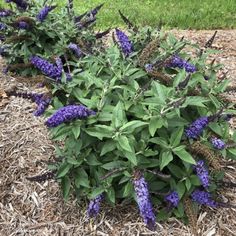
<svg viewBox="0 0 236 236">
<path fill-rule="evenodd" d="M 214 31 L 176 31 L 204 45 Z M 220 30 L 213 46 L 220 50 L 216 60 L 225 65 L 228 76 L 235 82 L 236 30 Z M 3 61 L 1 61 L 3 63 Z M 0 63 L 1 64 L 1 63 Z M 23 91 L 40 91 L 30 82 L 19 82 Z M 16 84 L 15 78 L 0 74 L 0 91 Z M 233 94 L 234 96 L 234 94 Z M 47 161 L 54 157 L 54 147 L 43 125 L 43 118 L 36 118 L 33 105 L 21 98 L 0 94 L 0 235 L 53 236 L 53 235 L 159 235 L 190 236 L 191 230 L 172 218 L 157 223 L 157 231 L 145 228 L 135 206 L 103 206 L 96 220 L 86 216 L 85 204 L 78 204 L 74 197 L 64 202 L 58 183 L 30 182 L 28 176 L 44 173 Z M 236 181 L 235 166 L 226 166 L 227 179 Z M 224 201 L 236 205 L 235 189 L 224 189 Z M 198 216 L 198 233 L 202 236 L 236 235 L 236 210 L 203 208 Z"/>
</svg>

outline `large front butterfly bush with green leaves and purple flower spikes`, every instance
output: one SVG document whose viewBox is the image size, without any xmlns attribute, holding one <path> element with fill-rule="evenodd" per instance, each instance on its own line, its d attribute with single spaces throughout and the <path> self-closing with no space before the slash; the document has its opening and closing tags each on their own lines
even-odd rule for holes
<svg viewBox="0 0 236 236">
<path fill-rule="evenodd" d="M 77 16 L 78 28 L 93 24 L 100 7 Z M 38 18 L 45 12 L 50 14 L 44 9 Z M 60 60 L 52 64 L 31 54 L 27 60 L 50 78 L 45 125 L 59 143 L 50 168 L 64 198 L 74 193 L 89 199 L 89 217 L 99 214 L 103 202 L 136 201 L 154 230 L 156 220 L 186 220 L 186 199 L 223 206 L 216 190 L 224 177 L 220 163 L 236 157 L 229 124 L 235 107 L 221 99 L 228 81 L 218 80 L 221 65 L 207 60 L 213 50 L 138 29 L 121 16 L 129 30 L 115 29 L 106 47 L 94 43 L 83 50 L 65 36 L 69 80 Z M 54 53 L 58 58 L 62 52 Z"/>
</svg>

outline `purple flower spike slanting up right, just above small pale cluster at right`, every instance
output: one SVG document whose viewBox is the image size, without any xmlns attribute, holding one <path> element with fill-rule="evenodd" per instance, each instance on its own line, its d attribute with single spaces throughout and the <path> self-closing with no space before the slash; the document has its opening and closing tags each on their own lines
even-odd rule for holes
<svg viewBox="0 0 236 236">
<path fill-rule="evenodd" d="M 208 124 L 209 119 L 207 116 L 200 117 L 185 129 L 185 134 L 188 138 L 196 139 Z"/>
</svg>

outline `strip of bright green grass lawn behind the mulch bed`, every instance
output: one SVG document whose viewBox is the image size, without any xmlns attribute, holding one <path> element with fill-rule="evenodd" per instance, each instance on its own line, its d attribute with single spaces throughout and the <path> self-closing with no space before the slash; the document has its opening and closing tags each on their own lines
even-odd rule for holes
<svg viewBox="0 0 236 236">
<path fill-rule="evenodd" d="M 58 0 L 60 6 L 64 2 Z M 235 0 L 79 0 L 74 1 L 75 11 L 81 14 L 103 2 L 98 28 L 123 26 L 118 9 L 137 25 L 157 26 L 162 20 L 166 28 L 236 28 Z"/>
</svg>

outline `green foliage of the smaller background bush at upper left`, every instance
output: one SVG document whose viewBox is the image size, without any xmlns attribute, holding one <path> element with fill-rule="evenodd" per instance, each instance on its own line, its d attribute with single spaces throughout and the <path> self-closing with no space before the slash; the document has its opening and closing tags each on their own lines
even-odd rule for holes
<svg viewBox="0 0 236 236">
<path fill-rule="evenodd" d="M 52 63 L 56 56 L 66 56 L 64 61 L 67 58 L 75 59 L 68 50 L 69 43 L 85 41 L 88 45 L 95 41 L 95 33 L 90 27 L 83 29 L 76 27 L 66 6 L 57 6 L 49 12 L 43 22 L 37 20 L 44 2 L 43 0 L 28 1 L 29 7 L 26 11 L 12 4 L 14 14 L 1 18 L 1 21 L 7 25 L 3 47 L 6 49 L 4 57 L 10 71 L 22 75 L 35 75 L 38 71 L 30 65 L 31 56 L 38 55 Z M 51 1 L 50 6 L 56 6 L 56 1 Z M 19 29 L 17 22 L 24 19 L 30 22 L 30 27 Z"/>
</svg>

